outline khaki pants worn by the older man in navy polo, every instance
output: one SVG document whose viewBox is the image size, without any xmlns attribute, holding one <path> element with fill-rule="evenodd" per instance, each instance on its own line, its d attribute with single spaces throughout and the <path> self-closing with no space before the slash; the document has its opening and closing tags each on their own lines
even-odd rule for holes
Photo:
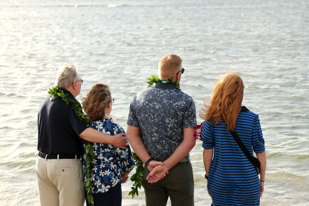
<svg viewBox="0 0 309 206">
<path fill-rule="evenodd" d="M 83 206 L 85 188 L 80 159 L 36 158 L 41 206 Z"/>
</svg>

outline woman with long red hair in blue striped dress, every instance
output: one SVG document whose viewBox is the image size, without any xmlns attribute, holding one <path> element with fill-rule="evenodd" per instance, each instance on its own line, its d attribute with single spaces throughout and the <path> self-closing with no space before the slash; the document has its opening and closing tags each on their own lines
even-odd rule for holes
<svg viewBox="0 0 309 206">
<path fill-rule="evenodd" d="M 259 116 L 241 106 L 243 81 L 226 73 L 215 86 L 210 104 L 200 116 L 203 159 L 212 205 L 260 205 L 264 191 L 266 154 Z M 260 177 L 230 131 L 235 131 L 253 157 L 260 161 Z"/>
</svg>

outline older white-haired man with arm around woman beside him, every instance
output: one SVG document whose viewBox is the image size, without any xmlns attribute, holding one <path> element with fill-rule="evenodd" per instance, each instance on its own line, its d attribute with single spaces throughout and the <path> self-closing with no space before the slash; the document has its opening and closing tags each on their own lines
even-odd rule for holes
<svg viewBox="0 0 309 206">
<path fill-rule="evenodd" d="M 83 80 L 74 65 L 65 64 L 56 76 L 56 85 L 76 100 Z M 38 112 L 38 157 L 36 176 L 41 206 L 82 206 L 85 201 L 80 138 L 125 149 L 125 134 L 109 136 L 80 121 L 61 98 L 47 96 Z"/>
</svg>

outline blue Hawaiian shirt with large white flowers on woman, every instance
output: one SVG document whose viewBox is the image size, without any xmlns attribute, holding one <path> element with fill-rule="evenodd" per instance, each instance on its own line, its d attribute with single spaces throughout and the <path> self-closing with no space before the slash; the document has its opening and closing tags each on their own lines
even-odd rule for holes
<svg viewBox="0 0 309 206">
<path fill-rule="evenodd" d="M 90 126 L 108 135 L 125 133 L 119 124 L 108 119 L 91 122 Z M 119 183 L 125 172 L 133 170 L 135 162 L 129 145 L 126 149 L 121 149 L 109 144 L 92 142 L 91 144 L 95 153 L 92 169 L 94 175 L 91 177 L 94 186 L 92 193 L 104 193 Z M 85 140 L 83 140 L 83 146 L 85 147 Z M 84 150 L 83 171 L 85 171 L 85 165 Z M 85 173 L 83 179 L 87 179 Z"/>
</svg>

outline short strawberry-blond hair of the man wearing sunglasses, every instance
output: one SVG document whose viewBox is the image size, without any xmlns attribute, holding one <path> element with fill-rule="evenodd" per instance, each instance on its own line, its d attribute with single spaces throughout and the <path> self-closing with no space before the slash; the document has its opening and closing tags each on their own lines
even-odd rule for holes
<svg viewBox="0 0 309 206">
<path fill-rule="evenodd" d="M 158 73 L 160 78 L 172 78 L 178 71 L 181 70 L 182 59 L 175 54 L 167 54 L 159 62 Z"/>
</svg>

